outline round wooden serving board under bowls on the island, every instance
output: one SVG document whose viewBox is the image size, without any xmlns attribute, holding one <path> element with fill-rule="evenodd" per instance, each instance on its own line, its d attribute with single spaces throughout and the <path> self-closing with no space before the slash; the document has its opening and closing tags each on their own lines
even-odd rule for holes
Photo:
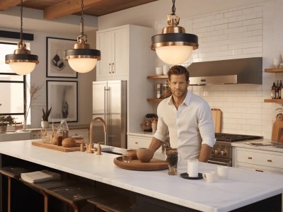
<svg viewBox="0 0 283 212">
<path fill-rule="evenodd" d="M 154 171 L 168 169 L 166 160 L 158 160 L 155 158 L 151 159 L 149 163 L 141 163 L 139 160 L 132 160 L 130 163 L 125 163 L 122 160 L 122 156 L 120 156 L 114 158 L 114 164 L 125 170 Z"/>
</svg>

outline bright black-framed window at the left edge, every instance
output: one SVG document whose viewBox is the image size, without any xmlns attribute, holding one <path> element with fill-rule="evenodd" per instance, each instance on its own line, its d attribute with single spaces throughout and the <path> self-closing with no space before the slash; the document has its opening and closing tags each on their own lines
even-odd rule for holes
<svg viewBox="0 0 283 212">
<path fill-rule="evenodd" d="M 23 122 L 26 77 L 13 73 L 10 66 L 5 64 L 5 55 L 13 54 L 18 47 L 13 42 L 0 42 L 0 49 L 0 114 L 10 114 L 16 118 L 16 122 Z"/>
</svg>

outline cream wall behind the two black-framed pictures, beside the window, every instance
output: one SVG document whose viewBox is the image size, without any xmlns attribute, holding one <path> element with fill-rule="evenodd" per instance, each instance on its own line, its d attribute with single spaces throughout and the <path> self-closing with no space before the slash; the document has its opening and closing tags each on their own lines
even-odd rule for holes
<svg viewBox="0 0 283 212">
<path fill-rule="evenodd" d="M 13 29 L 1 28 L 0 30 Z M 50 30 L 51 31 L 51 30 Z M 42 117 L 42 107 L 46 108 L 46 81 L 78 81 L 78 119 L 79 122 L 69 122 L 68 124 L 90 124 L 92 119 L 92 82 L 96 81 L 96 71 L 89 73 L 79 73 L 78 78 L 47 78 L 46 77 L 46 37 L 62 37 L 67 39 L 76 39 L 80 35 L 79 26 L 78 33 L 70 35 L 64 33 L 64 28 L 59 33 L 40 33 L 37 31 L 24 30 L 24 33 L 33 33 L 34 40 L 30 42 L 30 49 L 32 54 L 37 54 L 40 63 L 35 66 L 35 70 L 31 73 L 31 83 L 35 85 L 42 85 L 40 90 L 40 97 L 36 101 L 36 105 L 31 108 L 31 125 L 28 128 L 40 127 Z M 88 43 L 92 48 L 96 47 L 96 30 L 88 32 Z M 4 37 L 0 37 L 0 40 L 8 40 Z M 13 42 L 18 42 L 15 39 L 9 39 Z M 28 41 L 25 41 L 28 42 Z M 75 43 L 75 42 L 74 42 Z"/>
</svg>

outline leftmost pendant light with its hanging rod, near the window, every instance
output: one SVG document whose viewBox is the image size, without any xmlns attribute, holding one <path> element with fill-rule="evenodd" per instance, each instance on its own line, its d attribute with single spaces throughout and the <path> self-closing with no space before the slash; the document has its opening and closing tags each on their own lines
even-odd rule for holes
<svg viewBox="0 0 283 212">
<path fill-rule="evenodd" d="M 18 42 L 18 49 L 13 54 L 7 54 L 5 57 L 6 64 L 9 64 L 12 71 L 19 75 L 25 75 L 35 69 L 35 64 L 38 64 L 38 57 L 35 54 L 30 54 L 30 50 L 26 49 L 23 42 L 23 0 L 21 0 L 21 41 Z"/>
</svg>

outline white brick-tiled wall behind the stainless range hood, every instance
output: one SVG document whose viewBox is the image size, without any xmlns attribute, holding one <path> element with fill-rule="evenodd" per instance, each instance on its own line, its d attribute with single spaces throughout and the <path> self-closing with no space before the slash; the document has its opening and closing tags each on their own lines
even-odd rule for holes
<svg viewBox="0 0 283 212">
<path fill-rule="evenodd" d="M 209 2 L 209 5 L 204 6 Z M 283 0 L 275 1 L 187 1 L 175 3 L 180 25 L 187 33 L 199 35 L 200 49 L 192 61 L 243 57 L 263 57 L 263 69 L 283 52 Z M 99 30 L 126 23 L 144 25 L 161 33 L 166 27 L 166 14 L 171 13 L 171 0 L 154 1 L 98 18 Z M 234 44 L 231 43 L 234 41 Z M 217 45 L 212 45 L 216 43 Z M 162 63 L 156 58 L 156 66 Z M 263 70 L 262 70 L 263 71 Z M 270 98 L 272 82 L 283 79 L 282 73 L 262 73 L 262 85 L 191 86 L 211 107 L 223 111 L 223 132 L 254 134 L 271 138 L 272 120 L 277 103 Z M 145 100 L 146 101 L 146 100 Z"/>
</svg>

